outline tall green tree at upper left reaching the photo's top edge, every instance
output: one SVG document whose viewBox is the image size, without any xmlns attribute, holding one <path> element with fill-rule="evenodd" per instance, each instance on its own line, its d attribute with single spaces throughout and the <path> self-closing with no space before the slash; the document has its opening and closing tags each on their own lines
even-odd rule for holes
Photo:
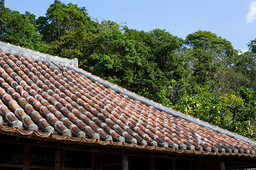
<svg viewBox="0 0 256 170">
<path fill-rule="evenodd" d="M 85 7 L 74 4 L 63 4 L 55 0 L 46 12 L 46 16 L 38 18 L 38 30 L 43 34 L 43 40 L 53 42 L 60 40 L 65 30 L 73 31 L 76 28 L 85 29 L 90 23 Z"/>
</svg>

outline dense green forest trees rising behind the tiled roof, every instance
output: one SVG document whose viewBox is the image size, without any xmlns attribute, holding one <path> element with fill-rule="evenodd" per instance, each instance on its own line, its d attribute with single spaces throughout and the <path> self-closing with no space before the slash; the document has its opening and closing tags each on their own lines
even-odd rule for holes
<svg viewBox="0 0 256 170">
<path fill-rule="evenodd" d="M 93 21 L 85 7 L 55 0 L 46 16 L 11 11 L 0 0 L 0 40 L 78 58 L 80 67 L 156 102 L 256 137 L 256 39 L 248 52 L 198 30 L 186 40 L 166 30 Z"/>
</svg>

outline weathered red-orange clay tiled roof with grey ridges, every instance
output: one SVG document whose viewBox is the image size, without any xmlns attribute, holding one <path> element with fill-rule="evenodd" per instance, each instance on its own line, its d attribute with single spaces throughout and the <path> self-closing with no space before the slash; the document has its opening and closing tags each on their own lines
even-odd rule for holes
<svg viewBox="0 0 256 170">
<path fill-rule="evenodd" d="M 4 42 L 0 49 L 0 132 L 255 157 L 256 142 L 133 94 L 77 62 Z"/>
</svg>

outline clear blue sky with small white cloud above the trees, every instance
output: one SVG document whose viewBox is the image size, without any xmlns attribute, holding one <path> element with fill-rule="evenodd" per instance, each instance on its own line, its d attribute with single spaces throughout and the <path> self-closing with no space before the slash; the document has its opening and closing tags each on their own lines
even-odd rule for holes
<svg viewBox="0 0 256 170">
<path fill-rule="evenodd" d="M 45 13 L 54 0 L 6 0 L 14 11 Z M 172 35 L 186 38 L 197 30 L 209 30 L 232 42 L 235 49 L 247 50 L 256 38 L 256 1 L 253 0 L 62 0 L 85 6 L 89 16 L 98 21 L 126 23 L 128 28 L 149 31 L 166 29 Z"/>
</svg>

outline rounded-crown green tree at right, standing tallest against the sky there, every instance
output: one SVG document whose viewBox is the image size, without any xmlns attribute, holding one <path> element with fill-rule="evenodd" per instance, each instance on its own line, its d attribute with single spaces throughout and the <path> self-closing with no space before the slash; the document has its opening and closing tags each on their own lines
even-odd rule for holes
<svg viewBox="0 0 256 170">
<path fill-rule="evenodd" d="M 233 67 L 238 62 L 238 51 L 231 42 L 209 31 L 198 30 L 187 35 L 192 77 L 199 86 L 210 86 L 210 91 L 228 93 L 237 75 Z M 230 77 L 230 75 L 232 77 Z"/>
</svg>

